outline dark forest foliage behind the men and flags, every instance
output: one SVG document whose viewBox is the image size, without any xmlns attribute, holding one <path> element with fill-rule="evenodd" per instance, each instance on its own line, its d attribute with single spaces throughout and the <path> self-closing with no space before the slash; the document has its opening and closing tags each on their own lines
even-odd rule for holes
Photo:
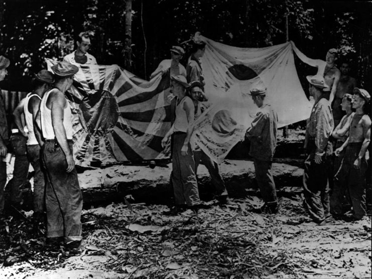
<svg viewBox="0 0 372 279">
<path fill-rule="evenodd" d="M 125 7 L 125 0 L 0 0 L 0 54 L 12 61 L 2 88 L 30 90 L 44 59 L 70 53 L 81 31 L 92 35 L 90 53 L 99 64 L 127 65 Z M 170 47 L 196 31 L 237 47 L 284 43 L 286 15 L 289 39 L 304 54 L 325 59 L 329 48 L 339 49 L 339 62 L 350 60 L 351 75 L 372 91 L 372 3 L 364 1 L 132 0 L 127 70 L 148 79 Z M 296 66 L 306 85 L 304 77 L 316 70 L 298 60 Z"/>
</svg>

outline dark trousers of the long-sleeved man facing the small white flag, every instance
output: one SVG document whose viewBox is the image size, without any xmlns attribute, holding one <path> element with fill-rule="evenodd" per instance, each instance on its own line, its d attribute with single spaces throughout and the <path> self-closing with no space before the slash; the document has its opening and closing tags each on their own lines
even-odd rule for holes
<svg viewBox="0 0 372 279">
<path fill-rule="evenodd" d="M 261 196 L 267 205 L 275 208 L 278 204 L 278 199 L 273 174 L 271 173 L 272 162 L 254 158 L 253 163 Z"/>
</svg>

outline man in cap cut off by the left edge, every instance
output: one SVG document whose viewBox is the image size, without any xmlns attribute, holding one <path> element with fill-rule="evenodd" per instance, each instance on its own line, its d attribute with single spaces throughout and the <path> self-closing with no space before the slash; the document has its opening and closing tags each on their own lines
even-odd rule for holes
<svg viewBox="0 0 372 279">
<path fill-rule="evenodd" d="M 0 55 L 0 81 L 3 81 L 8 74 L 7 68 L 9 64 L 9 59 Z M 0 91 L 0 214 L 2 214 L 4 210 L 4 187 L 7 183 L 7 163 L 5 162 L 5 157 L 7 156 L 8 143 L 9 131 L 7 112 L 5 111 L 3 94 L 1 94 Z"/>
</svg>

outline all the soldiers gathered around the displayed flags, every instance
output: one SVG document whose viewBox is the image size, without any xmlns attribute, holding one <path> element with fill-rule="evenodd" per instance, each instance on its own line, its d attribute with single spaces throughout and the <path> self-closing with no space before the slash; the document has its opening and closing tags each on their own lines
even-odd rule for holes
<svg viewBox="0 0 372 279">
<path fill-rule="evenodd" d="M 199 164 L 208 169 L 215 198 L 224 203 L 228 196 L 218 165 L 195 144 L 193 123 L 206 107 L 203 102 L 207 101 L 200 62 L 206 44 L 191 44 L 186 68 L 180 64 L 184 49 L 173 46 L 171 59 L 163 60 L 151 74 L 151 78 L 169 74 L 171 79 L 168 101 L 172 126 L 165 134 L 162 146 L 171 142 L 171 184 L 175 205 L 166 214 L 178 214 L 188 208 L 197 212 L 201 204 L 197 180 Z M 73 159 L 71 109 L 65 92 L 78 72 L 76 64 L 97 64 L 87 53 L 89 46 L 89 35 L 81 33 L 77 49 L 52 66 L 53 72 L 41 70 L 35 74 L 34 90 L 14 111 L 17 129 L 11 137 L 15 143 L 13 149 L 18 146 L 20 150 L 16 154 L 14 181 L 10 186 L 11 203 L 17 207 L 17 191 L 26 179 L 31 163 L 35 170 L 34 212 L 40 218 L 44 218 L 46 212 L 47 242 L 64 244 L 77 253 L 84 246 L 80 222 L 82 194 Z M 352 206 L 354 219 L 360 219 L 365 214 L 365 154 L 371 122 L 364 108 L 370 96 L 366 90 L 357 88 L 355 79 L 348 76 L 348 63 L 341 64 L 341 73 L 336 68 L 334 50 L 327 53 L 326 61 L 305 57 L 294 44 L 293 50 L 318 68 L 317 75 L 308 76 L 315 103 L 305 137 L 308 158 L 304 170 L 304 205 L 318 224 L 329 221 L 331 213 L 335 218 L 340 217 L 343 205 L 347 203 Z M 0 56 L 0 81 L 7 75 L 9 65 L 9 59 Z M 267 102 L 266 88 L 253 88 L 250 94 L 259 108 L 245 134 L 251 142 L 250 156 L 254 159 L 256 179 L 264 201 L 258 211 L 275 214 L 279 203 L 271 168 L 277 145 L 278 115 Z M 0 156 L 4 159 L 0 163 L 0 213 L 4 209 L 5 158 L 9 140 L 4 102 L 0 100 Z"/>
</svg>

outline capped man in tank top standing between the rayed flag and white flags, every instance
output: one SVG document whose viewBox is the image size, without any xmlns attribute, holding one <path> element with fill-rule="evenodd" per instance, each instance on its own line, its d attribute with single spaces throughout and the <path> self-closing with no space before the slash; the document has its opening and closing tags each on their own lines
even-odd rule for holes
<svg viewBox="0 0 372 279">
<path fill-rule="evenodd" d="M 200 203 L 199 190 L 195 176 L 195 163 L 192 150 L 187 138 L 187 129 L 194 121 L 194 104 L 190 97 L 186 96 L 186 88 L 189 84 L 183 75 L 171 76 L 171 92 L 177 97 L 176 118 L 162 140 L 163 148 L 172 135 L 172 183 L 176 207 L 171 210 L 178 213 L 187 205 L 193 209 Z M 186 147 L 186 152 L 182 148 Z"/>
</svg>

